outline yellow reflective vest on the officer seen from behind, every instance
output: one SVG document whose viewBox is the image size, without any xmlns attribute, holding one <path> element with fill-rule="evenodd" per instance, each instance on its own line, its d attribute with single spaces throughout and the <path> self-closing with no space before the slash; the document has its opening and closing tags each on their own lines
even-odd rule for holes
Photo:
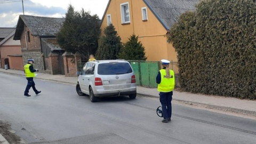
<svg viewBox="0 0 256 144">
<path fill-rule="evenodd" d="M 166 78 L 165 69 L 160 70 L 161 74 L 161 83 L 158 84 L 157 91 L 158 92 L 171 92 L 174 90 L 175 86 L 175 77 L 173 70 L 170 70 L 170 78 Z"/>
</svg>

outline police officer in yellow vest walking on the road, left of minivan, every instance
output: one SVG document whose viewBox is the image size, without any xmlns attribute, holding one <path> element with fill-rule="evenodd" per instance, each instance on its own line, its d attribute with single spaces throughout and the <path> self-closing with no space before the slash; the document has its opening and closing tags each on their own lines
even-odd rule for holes
<svg viewBox="0 0 256 144">
<path fill-rule="evenodd" d="M 26 90 L 24 92 L 24 95 L 27 96 L 27 97 L 31 96 L 31 95 L 28 94 L 30 87 L 33 88 L 33 90 L 36 94 L 41 93 L 41 91 L 36 90 L 35 82 L 33 80 L 33 77 L 36 76 L 35 72 L 38 71 L 32 65 L 33 63 L 34 63 L 33 59 L 28 59 L 28 63 L 24 66 L 24 72 L 25 72 L 25 75 L 26 75 L 26 79 L 28 80 L 28 84 L 27 84 Z"/>
</svg>

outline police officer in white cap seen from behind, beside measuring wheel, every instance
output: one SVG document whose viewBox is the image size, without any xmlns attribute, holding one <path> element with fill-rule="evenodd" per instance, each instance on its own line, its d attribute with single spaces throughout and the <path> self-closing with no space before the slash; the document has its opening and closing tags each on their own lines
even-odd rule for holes
<svg viewBox="0 0 256 144">
<path fill-rule="evenodd" d="M 159 92 L 160 102 L 162 105 L 163 123 L 171 121 L 172 117 L 172 94 L 175 86 L 175 78 L 173 70 L 169 69 L 169 60 L 161 60 L 163 69 L 156 76 L 158 84 L 157 91 Z"/>
</svg>

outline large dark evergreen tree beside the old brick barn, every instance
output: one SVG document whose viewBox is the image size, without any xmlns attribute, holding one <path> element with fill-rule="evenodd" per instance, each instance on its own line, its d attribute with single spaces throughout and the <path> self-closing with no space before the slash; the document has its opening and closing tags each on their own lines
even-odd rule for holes
<svg viewBox="0 0 256 144">
<path fill-rule="evenodd" d="M 99 22 L 98 15 L 91 15 L 83 9 L 74 11 L 74 7 L 69 5 L 65 21 L 57 34 L 59 45 L 67 52 L 78 51 L 86 57 L 94 54 L 101 33 Z"/>
</svg>

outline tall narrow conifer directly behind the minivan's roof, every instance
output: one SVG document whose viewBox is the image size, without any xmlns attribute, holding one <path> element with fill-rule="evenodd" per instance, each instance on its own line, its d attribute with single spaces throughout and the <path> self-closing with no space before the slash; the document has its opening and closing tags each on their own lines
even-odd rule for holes
<svg viewBox="0 0 256 144">
<path fill-rule="evenodd" d="M 122 47 L 121 37 L 115 27 L 110 24 L 104 29 L 104 36 L 100 39 L 100 46 L 96 53 L 97 60 L 114 60 Z"/>
</svg>

